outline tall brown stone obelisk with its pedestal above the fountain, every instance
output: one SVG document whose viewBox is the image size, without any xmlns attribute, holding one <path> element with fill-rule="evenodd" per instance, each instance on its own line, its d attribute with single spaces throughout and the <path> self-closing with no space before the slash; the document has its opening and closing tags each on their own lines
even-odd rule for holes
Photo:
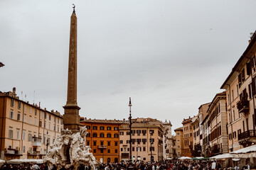
<svg viewBox="0 0 256 170">
<path fill-rule="evenodd" d="M 77 17 L 75 5 L 70 19 L 70 49 L 68 60 L 68 96 L 64 108 L 63 125 L 66 130 L 79 130 L 80 116 L 77 102 Z"/>
</svg>

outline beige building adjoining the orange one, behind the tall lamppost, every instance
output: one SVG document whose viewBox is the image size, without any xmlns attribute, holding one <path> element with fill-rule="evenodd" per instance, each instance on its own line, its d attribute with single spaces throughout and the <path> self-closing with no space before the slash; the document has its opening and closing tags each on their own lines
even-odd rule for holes
<svg viewBox="0 0 256 170">
<path fill-rule="evenodd" d="M 151 157 L 154 161 L 163 160 L 164 126 L 161 122 L 151 118 L 137 118 L 132 122 L 132 160 L 149 162 Z M 128 161 L 130 151 L 128 120 L 124 120 L 119 132 L 120 160 Z"/>
</svg>

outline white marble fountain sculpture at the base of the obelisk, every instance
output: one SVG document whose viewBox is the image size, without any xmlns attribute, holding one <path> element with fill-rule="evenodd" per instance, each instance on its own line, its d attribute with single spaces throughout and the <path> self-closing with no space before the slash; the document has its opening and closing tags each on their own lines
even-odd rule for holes
<svg viewBox="0 0 256 170">
<path fill-rule="evenodd" d="M 80 128 L 78 132 L 63 130 L 62 135 L 58 136 L 53 145 L 50 145 L 48 154 L 43 161 L 50 166 L 55 164 L 58 169 L 62 166 L 65 168 L 75 166 L 77 169 L 80 164 L 85 164 L 95 170 L 100 162 L 97 162 L 90 153 L 90 147 L 85 145 L 86 130 L 85 127 Z"/>
</svg>

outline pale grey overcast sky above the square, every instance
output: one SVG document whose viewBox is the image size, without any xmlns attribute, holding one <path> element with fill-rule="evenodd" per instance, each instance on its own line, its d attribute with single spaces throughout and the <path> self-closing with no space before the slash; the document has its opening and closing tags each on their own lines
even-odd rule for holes
<svg viewBox="0 0 256 170">
<path fill-rule="evenodd" d="M 223 91 L 256 29 L 255 0 L 1 0 L 0 91 L 63 114 L 73 3 L 87 118 L 127 119 L 131 97 L 133 118 L 181 127 Z"/>
</svg>

